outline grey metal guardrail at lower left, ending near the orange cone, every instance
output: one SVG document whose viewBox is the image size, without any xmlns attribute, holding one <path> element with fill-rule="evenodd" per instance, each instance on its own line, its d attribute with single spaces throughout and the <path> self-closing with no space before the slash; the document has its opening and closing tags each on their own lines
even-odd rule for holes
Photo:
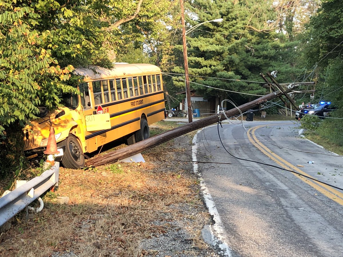
<svg viewBox="0 0 343 257">
<path fill-rule="evenodd" d="M 0 198 L 0 227 L 54 185 L 58 185 L 59 162 L 42 175 L 27 181 Z M 32 193 L 33 197 L 28 195 Z"/>
</svg>

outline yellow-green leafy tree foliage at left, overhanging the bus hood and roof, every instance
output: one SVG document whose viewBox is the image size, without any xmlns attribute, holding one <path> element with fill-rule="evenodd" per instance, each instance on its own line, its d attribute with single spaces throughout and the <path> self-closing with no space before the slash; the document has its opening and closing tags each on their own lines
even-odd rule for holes
<svg viewBox="0 0 343 257">
<path fill-rule="evenodd" d="M 5 164 L 2 167 L 18 162 L 23 150 L 21 129 L 36 118 L 39 106 L 57 108 L 62 92 L 77 93 L 74 86 L 79 77 L 72 75 L 73 68 L 111 67 L 125 38 L 134 34 L 127 24 L 133 28 L 132 24 L 141 20 L 153 23 L 157 13 L 162 15 L 154 2 L 0 2 L 0 159 Z"/>
</svg>

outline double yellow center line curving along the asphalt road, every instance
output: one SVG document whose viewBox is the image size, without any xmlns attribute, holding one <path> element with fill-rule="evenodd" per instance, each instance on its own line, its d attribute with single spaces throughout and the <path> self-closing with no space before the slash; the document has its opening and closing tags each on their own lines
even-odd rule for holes
<svg viewBox="0 0 343 257">
<path fill-rule="evenodd" d="M 255 131 L 257 129 L 261 128 L 261 127 L 264 127 L 264 126 L 266 126 L 266 125 L 256 126 L 256 127 L 252 127 L 251 129 L 249 129 L 248 132 L 247 132 L 249 141 L 254 146 L 256 146 L 259 150 L 261 150 L 261 152 L 263 152 L 263 154 L 267 155 L 270 159 L 275 161 L 282 168 L 291 169 L 291 170 L 294 170 L 294 171 L 296 171 L 296 172 L 298 172 L 300 174 L 303 174 L 303 175 L 306 175 L 306 176 L 309 176 L 310 178 L 312 178 L 312 176 L 310 176 L 306 172 L 300 170 L 299 168 L 297 168 L 293 164 L 287 162 L 286 160 L 284 160 L 283 158 L 281 158 L 280 156 L 275 154 L 273 151 L 271 151 L 268 147 L 263 145 L 257 139 L 257 137 L 255 135 Z M 339 203 L 340 205 L 343 205 L 343 193 L 342 192 L 336 190 L 335 188 L 333 188 L 331 186 L 324 185 L 324 184 L 322 184 L 320 182 L 310 180 L 310 179 L 305 178 L 305 177 L 303 177 L 301 175 L 298 175 L 298 174 L 295 174 L 295 173 L 292 173 L 292 174 L 294 174 L 297 178 L 301 179 L 302 181 L 304 181 L 308 185 L 310 185 L 313 188 L 315 188 L 318 192 L 320 192 L 323 195 L 329 197 L 330 199 L 334 200 L 335 202 Z"/>
</svg>

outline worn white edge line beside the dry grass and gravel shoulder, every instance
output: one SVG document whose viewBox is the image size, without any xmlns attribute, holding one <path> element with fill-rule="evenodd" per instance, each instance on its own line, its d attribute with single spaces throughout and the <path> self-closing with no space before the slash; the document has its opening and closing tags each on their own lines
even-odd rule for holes
<svg viewBox="0 0 343 257">
<path fill-rule="evenodd" d="M 198 164 L 194 161 L 197 161 L 197 137 L 198 134 L 202 130 L 198 130 L 197 133 L 194 135 L 192 140 L 192 160 L 193 160 L 193 172 L 197 174 L 199 181 L 200 181 L 200 193 L 202 194 L 202 197 L 205 201 L 205 205 L 207 206 L 210 215 L 213 217 L 214 224 L 211 225 L 211 234 L 212 234 L 212 240 L 216 243 L 216 245 L 223 251 L 225 256 L 231 257 L 231 249 L 227 245 L 225 241 L 224 236 L 224 229 L 223 229 L 223 223 L 220 219 L 219 213 L 217 211 L 217 208 L 215 207 L 213 198 L 206 187 L 205 181 L 201 177 L 201 172 L 198 171 Z"/>
</svg>

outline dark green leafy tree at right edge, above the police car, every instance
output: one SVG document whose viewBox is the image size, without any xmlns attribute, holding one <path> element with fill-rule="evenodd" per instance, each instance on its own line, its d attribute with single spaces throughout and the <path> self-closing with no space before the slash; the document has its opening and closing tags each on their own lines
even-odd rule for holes
<svg viewBox="0 0 343 257">
<path fill-rule="evenodd" d="M 311 18 L 301 49 L 317 80 L 315 100 L 328 100 L 340 108 L 343 108 L 342 11 L 342 1 L 324 2 Z"/>
</svg>

